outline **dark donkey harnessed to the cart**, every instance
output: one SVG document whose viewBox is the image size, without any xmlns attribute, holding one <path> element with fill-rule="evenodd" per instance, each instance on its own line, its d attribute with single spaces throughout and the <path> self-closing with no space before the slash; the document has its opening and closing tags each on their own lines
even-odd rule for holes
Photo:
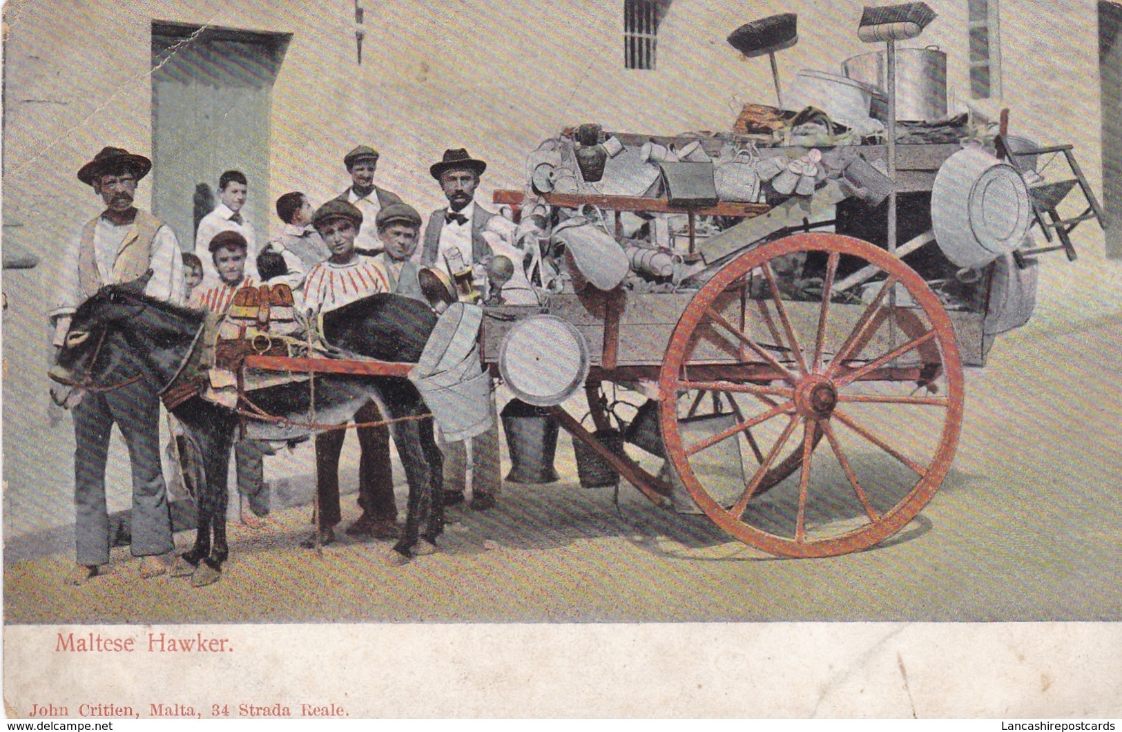
<svg viewBox="0 0 1122 732">
<path fill-rule="evenodd" d="M 137 379 L 154 383 L 162 393 L 175 382 L 200 346 L 206 314 L 148 298 L 142 286 L 142 281 L 107 285 L 74 313 L 70 335 L 49 372 L 50 378 L 65 387 L 52 390 L 58 403 L 73 406 L 85 391 L 110 390 Z M 420 358 L 436 322 L 426 304 L 389 294 L 373 295 L 329 315 L 324 332 L 344 344 L 348 351 L 408 363 Z M 408 483 L 408 509 L 405 531 L 394 545 L 390 560 L 401 564 L 415 551 L 434 550 L 443 531 L 443 504 L 434 500 L 441 486 L 441 452 L 432 419 L 426 418 L 429 410 L 408 379 L 316 375 L 314 385 L 293 382 L 252 392 L 255 408 L 286 421 L 255 421 L 254 412 L 247 415 L 245 410 L 241 417 L 248 420 L 251 437 L 292 439 L 316 431 L 305 426 L 313 399 L 316 422 L 342 423 L 371 397 L 385 408 L 385 414 L 398 420 L 392 429 Z M 181 556 L 180 571 L 173 574 L 190 574 L 193 586 L 204 586 L 220 578 L 222 562 L 229 557 L 227 470 L 239 413 L 199 395 L 175 405 L 172 413 L 183 423 L 201 467 L 194 476 L 199 509 L 195 542 Z M 419 538 L 425 545 L 417 547 Z"/>
</svg>

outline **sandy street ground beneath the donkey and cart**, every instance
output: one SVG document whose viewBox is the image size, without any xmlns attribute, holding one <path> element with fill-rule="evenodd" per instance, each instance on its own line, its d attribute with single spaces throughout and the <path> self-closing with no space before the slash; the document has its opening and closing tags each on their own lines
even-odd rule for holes
<svg viewBox="0 0 1122 732">
<path fill-rule="evenodd" d="M 4 621 L 1122 620 L 1122 384 L 1103 368 L 1122 362 L 1120 330 L 1122 314 L 1105 312 L 1002 337 L 987 366 L 967 372 L 942 487 L 863 552 L 776 559 L 626 484 L 617 507 L 611 488 L 580 487 L 562 434 L 560 482 L 507 484 L 489 512 L 452 509 L 440 551 L 405 567 L 387 564 L 388 542 L 298 548 L 310 511 L 292 505 L 261 528 L 231 524 L 223 578 L 203 589 L 141 580 L 123 549 L 109 576 L 77 589 L 63 585 L 70 550 L 8 564 Z M 304 503 L 311 484 L 287 489 Z M 346 525 L 357 509 L 343 501 Z"/>
</svg>

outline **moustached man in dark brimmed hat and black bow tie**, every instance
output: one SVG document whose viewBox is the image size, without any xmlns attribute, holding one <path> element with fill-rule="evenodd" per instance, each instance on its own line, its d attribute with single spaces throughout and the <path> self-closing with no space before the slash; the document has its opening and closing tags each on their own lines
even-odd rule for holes
<svg viewBox="0 0 1122 732">
<path fill-rule="evenodd" d="M 436 209 L 429 217 L 421 254 L 421 264 L 424 266 L 438 267 L 454 276 L 457 273 L 452 269 L 459 269 L 458 263 L 482 271 L 490 262 L 491 247 L 482 235 L 487 222 L 495 214 L 475 201 L 479 176 L 486 170 L 487 163 L 471 157 L 463 148 L 444 150 L 441 161 L 430 166 L 429 172 L 448 198 L 448 208 Z M 494 393 L 490 410 L 490 429 L 471 438 L 470 505 L 477 511 L 486 511 L 495 505 L 503 481 Z M 444 454 L 444 503 L 452 505 L 463 501 L 467 487 L 467 448 L 462 441 L 441 442 L 441 450 Z"/>
</svg>

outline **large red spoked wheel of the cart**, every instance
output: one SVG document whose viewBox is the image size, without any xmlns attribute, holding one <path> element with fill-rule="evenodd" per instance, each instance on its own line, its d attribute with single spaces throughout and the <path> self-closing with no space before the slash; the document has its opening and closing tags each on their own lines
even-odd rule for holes
<svg viewBox="0 0 1122 732">
<path fill-rule="evenodd" d="M 812 264 L 821 295 L 781 296 L 776 273 Z M 835 291 L 839 269 L 870 265 L 870 302 Z M 698 506 L 781 556 L 847 553 L 899 531 L 938 489 L 962 424 L 962 364 L 938 298 L 896 257 L 834 234 L 772 241 L 720 269 L 674 328 L 659 388 L 668 459 Z M 678 403 L 708 392 L 737 413 L 699 433 Z M 748 430 L 764 459 L 737 466 L 728 445 Z M 792 457 L 798 469 L 764 495 Z"/>
</svg>

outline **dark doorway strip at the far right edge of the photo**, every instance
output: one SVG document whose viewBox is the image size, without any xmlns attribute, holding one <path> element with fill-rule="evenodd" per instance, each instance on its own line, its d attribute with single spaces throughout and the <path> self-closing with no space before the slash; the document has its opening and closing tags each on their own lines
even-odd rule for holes
<svg viewBox="0 0 1122 732">
<path fill-rule="evenodd" d="M 1106 256 L 1122 259 L 1122 4 L 1098 3 L 1098 71 L 1102 103 L 1103 210 Z"/>
</svg>

